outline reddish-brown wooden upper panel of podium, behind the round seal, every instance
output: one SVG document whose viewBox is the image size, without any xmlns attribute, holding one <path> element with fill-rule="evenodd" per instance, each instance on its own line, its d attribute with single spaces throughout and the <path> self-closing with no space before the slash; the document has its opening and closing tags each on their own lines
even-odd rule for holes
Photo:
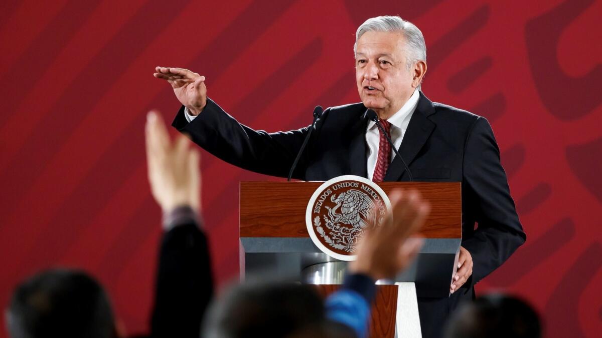
<svg viewBox="0 0 602 338">
<path fill-rule="evenodd" d="M 309 237 L 305 210 L 323 182 L 241 182 L 240 237 Z M 430 202 L 431 212 L 420 230 L 424 238 L 461 238 L 462 200 L 459 182 L 382 182 L 395 188 L 417 189 Z"/>
</svg>

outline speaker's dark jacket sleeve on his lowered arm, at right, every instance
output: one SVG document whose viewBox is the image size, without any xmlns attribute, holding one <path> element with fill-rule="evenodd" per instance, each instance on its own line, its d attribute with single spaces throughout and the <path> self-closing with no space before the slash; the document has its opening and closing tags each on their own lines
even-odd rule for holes
<svg viewBox="0 0 602 338">
<path fill-rule="evenodd" d="M 468 133 L 464 152 L 464 183 L 471 217 L 478 223 L 462 246 L 473 257 L 470 287 L 498 268 L 526 240 L 510 197 L 506 173 L 501 167 L 500 150 L 488 121 L 477 118 Z"/>
</svg>

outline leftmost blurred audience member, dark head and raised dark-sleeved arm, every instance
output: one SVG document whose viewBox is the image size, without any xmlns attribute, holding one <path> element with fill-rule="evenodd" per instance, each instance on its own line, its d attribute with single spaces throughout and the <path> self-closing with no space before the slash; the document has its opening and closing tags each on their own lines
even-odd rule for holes
<svg viewBox="0 0 602 338">
<path fill-rule="evenodd" d="M 148 176 L 163 210 L 151 337 L 199 337 L 213 294 L 205 235 L 200 230 L 199 153 L 179 136 L 171 143 L 164 122 L 146 123 Z M 7 310 L 13 338 L 121 337 L 107 294 L 85 272 L 52 269 L 17 286 Z"/>
</svg>

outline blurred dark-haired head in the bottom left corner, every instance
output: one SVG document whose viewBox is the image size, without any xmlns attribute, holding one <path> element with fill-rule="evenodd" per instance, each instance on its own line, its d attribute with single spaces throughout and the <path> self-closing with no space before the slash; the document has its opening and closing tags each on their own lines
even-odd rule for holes
<svg viewBox="0 0 602 338">
<path fill-rule="evenodd" d="M 116 336 L 107 294 L 82 271 L 52 269 L 23 281 L 7 309 L 12 338 Z"/>
</svg>

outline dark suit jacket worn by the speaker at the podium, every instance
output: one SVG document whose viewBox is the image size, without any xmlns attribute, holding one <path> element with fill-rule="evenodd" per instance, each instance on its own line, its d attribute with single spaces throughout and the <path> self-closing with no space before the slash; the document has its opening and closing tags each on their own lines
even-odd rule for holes
<svg viewBox="0 0 602 338">
<path fill-rule="evenodd" d="M 367 177 L 365 111 L 362 103 L 327 108 L 293 177 Z M 276 133 L 255 131 L 238 123 L 209 99 L 191 123 L 182 107 L 173 126 L 226 162 L 280 177 L 287 177 L 308 132 L 308 128 Z M 414 180 L 462 182 L 462 246 L 473 257 L 473 275 L 464 290 L 458 290 L 449 299 L 419 300 L 423 336 L 437 337 L 448 312 L 462 298 L 472 298 L 474 283 L 500 266 L 526 236 L 510 197 L 500 151 L 485 118 L 433 103 L 420 93 L 399 152 Z M 385 181 L 408 179 L 402 162 L 394 158 Z"/>
</svg>

